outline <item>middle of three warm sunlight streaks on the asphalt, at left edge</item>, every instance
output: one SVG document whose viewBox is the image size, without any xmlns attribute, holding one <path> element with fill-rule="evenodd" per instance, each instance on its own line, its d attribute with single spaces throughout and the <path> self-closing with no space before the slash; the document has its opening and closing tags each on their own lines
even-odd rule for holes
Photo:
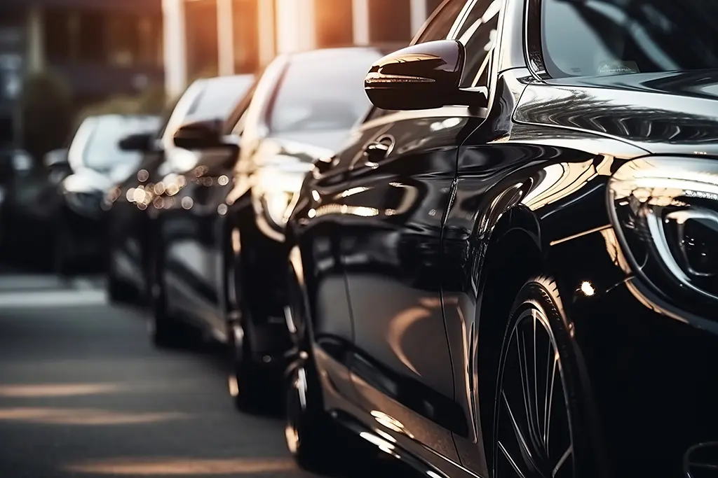
<svg viewBox="0 0 718 478">
<path fill-rule="evenodd" d="M 89 408 L 0 408 L 0 421 L 50 425 L 133 425 L 186 419 L 177 412 L 121 412 Z"/>
</svg>

